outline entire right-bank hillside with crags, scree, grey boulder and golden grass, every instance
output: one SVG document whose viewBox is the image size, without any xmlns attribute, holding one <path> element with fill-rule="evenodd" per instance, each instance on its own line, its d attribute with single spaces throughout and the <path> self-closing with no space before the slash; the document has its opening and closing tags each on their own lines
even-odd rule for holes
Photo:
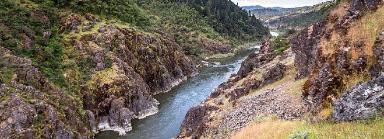
<svg viewBox="0 0 384 139">
<path fill-rule="evenodd" d="M 179 137 L 382 138 L 383 9 L 381 0 L 341 0 L 289 46 L 265 41 L 188 111 Z"/>
</svg>

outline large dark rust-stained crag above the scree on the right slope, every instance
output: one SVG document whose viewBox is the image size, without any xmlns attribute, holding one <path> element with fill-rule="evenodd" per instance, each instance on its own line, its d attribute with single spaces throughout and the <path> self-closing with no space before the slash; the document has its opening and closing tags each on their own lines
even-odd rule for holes
<svg viewBox="0 0 384 139">
<path fill-rule="evenodd" d="M 367 9 L 376 10 L 380 5 L 381 0 L 352 0 L 350 9 L 363 16 Z M 339 92 L 345 91 L 345 80 L 349 78 L 346 75 L 362 73 L 367 68 L 367 56 L 351 58 L 351 43 L 345 41 L 348 38 L 344 38 L 351 23 L 359 17 L 361 16 L 356 17 L 352 13 L 341 16 L 331 14 L 326 22 L 306 28 L 291 41 L 292 50 L 296 53 L 295 66 L 299 69 L 297 78 L 309 77 L 302 95 L 308 111 L 316 114 L 323 104 L 329 104 L 338 98 Z M 330 22 L 333 24 L 325 25 Z M 340 38 L 332 40 L 333 34 Z M 337 49 L 327 51 L 328 45 L 319 46 L 322 42 L 326 44 L 329 41 L 336 43 Z M 371 76 L 375 76 L 379 69 L 373 67 L 371 71 Z"/>
</svg>

